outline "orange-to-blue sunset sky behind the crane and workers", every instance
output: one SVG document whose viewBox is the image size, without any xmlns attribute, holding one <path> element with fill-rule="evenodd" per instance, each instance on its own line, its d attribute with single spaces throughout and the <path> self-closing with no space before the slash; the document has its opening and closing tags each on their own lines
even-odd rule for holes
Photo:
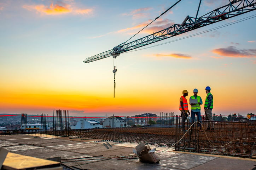
<svg viewBox="0 0 256 170">
<path fill-rule="evenodd" d="M 0 1 L 0 113 L 179 114 L 183 90 L 188 99 L 197 88 L 204 105 L 210 86 L 213 113 L 255 114 L 256 11 L 121 53 L 116 61 L 83 63 L 126 42 L 175 2 Z M 198 16 L 228 3 L 202 0 Z M 182 0 L 128 43 L 196 17 L 198 4 Z"/>
</svg>

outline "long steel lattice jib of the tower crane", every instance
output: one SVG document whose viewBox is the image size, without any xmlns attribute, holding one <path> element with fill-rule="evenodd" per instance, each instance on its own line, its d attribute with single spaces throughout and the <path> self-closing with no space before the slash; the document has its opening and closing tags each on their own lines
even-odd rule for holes
<svg viewBox="0 0 256 170">
<path fill-rule="evenodd" d="M 256 0 L 233 0 L 229 4 L 217 8 L 199 18 L 187 16 L 181 24 L 174 24 L 167 29 L 155 32 L 149 36 L 134 40 L 130 43 L 122 43 L 112 50 L 108 50 L 97 55 L 86 58 L 84 63 L 93 62 L 110 56 L 118 56 L 122 52 L 134 50 L 136 48 L 158 42 L 163 39 L 198 29 L 228 18 L 238 16 L 256 10 Z"/>
</svg>

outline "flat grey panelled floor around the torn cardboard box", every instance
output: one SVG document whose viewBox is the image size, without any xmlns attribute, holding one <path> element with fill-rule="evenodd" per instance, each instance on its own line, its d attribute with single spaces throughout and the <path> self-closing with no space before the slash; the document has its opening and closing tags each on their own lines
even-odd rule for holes
<svg viewBox="0 0 256 170">
<path fill-rule="evenodd" d="M 142 163 L 133 153 L 136 145 L 138 143 L 116 143 L 101 139 L 81 141 L 75 137 L 40 134 L 0 136 L 0 147 L 9 152 L 42 159 L 60 157 L 63 169 L 69 169 L 68 167 L 90 170 L 256 169 L 256 159 L 177 152 L 174 148 L 154 145 L 150 147 L 151 149 L 156 147 L 155 154 L 161 160 L 155 164 Z"/>
</svg>

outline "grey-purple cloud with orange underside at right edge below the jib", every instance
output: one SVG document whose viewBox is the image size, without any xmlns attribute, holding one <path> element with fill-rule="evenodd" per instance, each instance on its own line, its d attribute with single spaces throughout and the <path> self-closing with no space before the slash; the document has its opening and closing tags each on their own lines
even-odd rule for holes
<svg viewBox="0 0 256 170">
<path fill-rule="evenodd" d="M 234 46 L 214 49 L 211 52 L 226 57 L 256 57 L 256 49 L 239 50 L 236 49 Z"/>
</svg>

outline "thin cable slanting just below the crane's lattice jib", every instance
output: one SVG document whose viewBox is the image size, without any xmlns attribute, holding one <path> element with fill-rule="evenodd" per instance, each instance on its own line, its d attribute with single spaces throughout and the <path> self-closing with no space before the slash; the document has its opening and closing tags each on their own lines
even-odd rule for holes
<svg viewBox="0 0 256 170">
<path fill-rule="evenodd" d="M 255 18 L 255 17 L 256 17 L 256 14 L 255 14 L 255 15 L 251 15 L 251 16 L 249 16 L 249 17 L 251 17 L 251 18 Z M 221 26 L 217 26 L 217 27 L 214 27 L 214 28 L 209 29 L 209 30 L 205 30 L 205 31 L 201 31 L 201 32 L 198 32 L 198 33 L 194 33 L 194 34 L 192 34 L 192 35 L 185 36 L 185 37 L 183 37 L 183 38 L 178 38 L 178 39 L 175 39 L 175 40 L 171 40 L 171 41 L 166 42 L 166 43 L 161 43 L 161 44 L 158 44 L 158 45 L 153 45 L 153 46 L 146 47 L 146 48 L 142 48 L 142 49 L 137 49 L 137 50 L 132 50 L 132 51 L 126 51 L 126 52 L 123 52 L 123 53 L 128 53 L 128 52 L 134 52 L 134 51 L 144 50 L 144 49 L 148 49 L 148 48 L 156 47 L 156 46 L 159 46 L 159 45 L 164 45 L 164 44 L 172 43 L 172 42 L 175 42 L 175 41 L 179 41 L 179 40 L 182 40 L 182 39 L 186 39 L 186 38 L 194 37 L 194 36 L 197 36 L 197 35 L 200 35 L 200 34 L 206 33 L 206 32 L 214 31 L 214 30 L 217 30 L 217 29 L 220 29 L 220 28 L 223 28 L 223 27 L 229 26 L 229 25 L 233 25 L 233 24 L 240 23 L 240 22 L 242 22 L 242 21 L 245 21 L 245 20 L 251 19 L 251 18 L 249 18 L 249 17 L 245 17 L 245 18 L 239 19 L 239 20 L 237 20 L 237 21 L 232 21 L 231 23 L 224 24 L 224 25 L 221 25 Z"/>
</svg>

